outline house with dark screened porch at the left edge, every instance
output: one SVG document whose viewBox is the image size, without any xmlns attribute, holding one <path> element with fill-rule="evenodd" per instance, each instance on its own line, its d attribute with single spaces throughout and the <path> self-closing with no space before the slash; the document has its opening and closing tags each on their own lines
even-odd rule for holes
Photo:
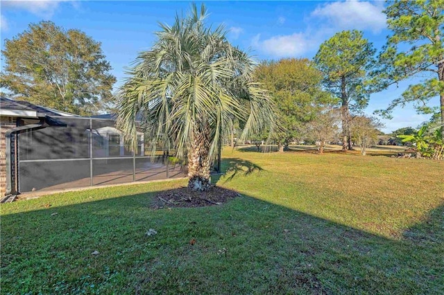
<svg viewBox="0 0 444 295">
<path fill-rule="evenodd" d="M 182 177 L 180 167 L 133 152 L 112 115 L 83 117 L 0 98 L 0 194 Z"/>
</svg>

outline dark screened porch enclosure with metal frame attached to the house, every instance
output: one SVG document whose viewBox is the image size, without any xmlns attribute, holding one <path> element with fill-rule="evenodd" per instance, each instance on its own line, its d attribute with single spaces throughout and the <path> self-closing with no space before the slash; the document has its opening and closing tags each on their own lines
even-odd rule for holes
<svg viewBox="0 0 444 295">
<path fill-rule="evenodd" d="M 123 184 L 186 176 L 184 163 L 137 134 L 137 150 L 123 141 L 114 120 L 51 116 L 66 127 L 25 129 L 16 136 L 12 172 L 17 193 Z M 20 119 L 29 125 L 32 119 Z"/>
</svg>

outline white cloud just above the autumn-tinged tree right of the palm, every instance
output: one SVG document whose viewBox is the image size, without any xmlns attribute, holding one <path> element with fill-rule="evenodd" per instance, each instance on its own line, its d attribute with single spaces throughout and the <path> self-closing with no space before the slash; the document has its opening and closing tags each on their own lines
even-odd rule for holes
<svg viewBox="0 0 444 295">
<path fill-rule="evenodd" d="M 318 42 L 305 33 L 273 36 L 261 40 L 260 34 L 253 37 L 252 45 L 259 51 L 274 57 L 299 57 L 316 48 Z"/>
</svg>

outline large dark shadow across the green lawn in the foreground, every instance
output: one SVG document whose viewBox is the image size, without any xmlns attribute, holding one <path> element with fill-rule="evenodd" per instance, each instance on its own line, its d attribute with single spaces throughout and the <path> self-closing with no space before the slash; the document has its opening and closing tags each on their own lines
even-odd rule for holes
<svg viewBox="0 0 444 295">
<path fill-rule="evenodd" d="M 26 204 L 35 211 L 3 210 L 2 294 L 444 292 L 444 206 L 390 240 L 248 196 L 152 210 L 156 193 L 44 208 L 57 203 L 49 196 Z"/>
</svg>

